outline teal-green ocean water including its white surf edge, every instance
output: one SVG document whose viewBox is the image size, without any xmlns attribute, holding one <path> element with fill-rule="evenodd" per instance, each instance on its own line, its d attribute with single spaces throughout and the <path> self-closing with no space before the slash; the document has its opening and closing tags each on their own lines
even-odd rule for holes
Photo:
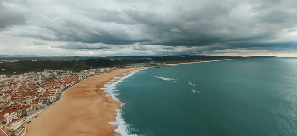
<svg viewBox="0 0 297 136">
<path fill-rule="evenodd" d="M 106 88 L 123 136 L 297 136 L 297 59 L 149 68 Z"/>
</svg>

